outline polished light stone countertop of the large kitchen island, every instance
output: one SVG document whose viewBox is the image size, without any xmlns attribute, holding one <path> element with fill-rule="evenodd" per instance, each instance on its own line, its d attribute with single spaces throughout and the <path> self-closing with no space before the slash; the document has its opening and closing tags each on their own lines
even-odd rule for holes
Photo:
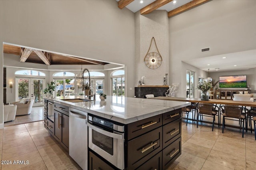
<svg viewBox="0 0 256 170">
<path fill-rule="evenodd" d="M 189 106 L 191 104 L 190 102 L 117 96 L 107 96 L 106 100 L 100 101 L 98 95 L 96 96 L 95 101 L 90 102 L 71 103 L 61 100 L 68 98 L 74 98 L 74 96 L 57 97 L 55 99 L 47 98 L 47 100 L 123 124 L 146 119 L 148 117 Z M 84 98 L 84 96 L 76 98 Z"/>
</svg>

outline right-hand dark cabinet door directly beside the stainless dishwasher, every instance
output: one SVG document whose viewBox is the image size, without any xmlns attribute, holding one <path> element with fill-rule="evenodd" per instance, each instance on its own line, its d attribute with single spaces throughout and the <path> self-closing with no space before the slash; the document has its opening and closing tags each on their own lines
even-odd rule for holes
<svg viewBox="0 0 256 170">
<path fill-rule="evenodd" d="M 61 143 L 69 146 L 69 117 L 62 114 L 61 117 Z"/>
</svg>

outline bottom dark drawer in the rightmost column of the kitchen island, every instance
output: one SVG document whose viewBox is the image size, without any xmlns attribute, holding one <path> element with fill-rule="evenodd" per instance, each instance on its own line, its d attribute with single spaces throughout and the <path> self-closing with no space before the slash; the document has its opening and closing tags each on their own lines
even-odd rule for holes
<svg viewBox="0 0 256 170">
<path fill-rule="evenodd" d="M 181 154 L 181 137 L 163 150 L 163 169 L 167 169 Z"/>
</svg>

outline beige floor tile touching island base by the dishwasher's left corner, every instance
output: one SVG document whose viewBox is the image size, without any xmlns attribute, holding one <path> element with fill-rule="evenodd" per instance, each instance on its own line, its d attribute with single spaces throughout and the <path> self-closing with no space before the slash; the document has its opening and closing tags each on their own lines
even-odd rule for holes
<svg viewBox="0 0 256 170">
<path fill-rule="evenodd" d="M 38 152 L 43 160 L 52 158 L 56 155 L 67 154 L 67 152 L 60 145 L 52 145 L 50 147 L 42 148 L 39 149 Z"/>
</svg>

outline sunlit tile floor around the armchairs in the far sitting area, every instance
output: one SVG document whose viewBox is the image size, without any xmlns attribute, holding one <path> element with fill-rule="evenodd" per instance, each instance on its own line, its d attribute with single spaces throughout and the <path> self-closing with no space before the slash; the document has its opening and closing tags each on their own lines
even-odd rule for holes
<svg viewBox="0 0 256 170">
<path fill-rule="evenodd" d="M 44 106 L 32 107 L 31 113 L 29 115 L 16 116 L 14 121 L 5 122 L 4 127 L 40 120 L 44 120 Z"/>
</svg>

